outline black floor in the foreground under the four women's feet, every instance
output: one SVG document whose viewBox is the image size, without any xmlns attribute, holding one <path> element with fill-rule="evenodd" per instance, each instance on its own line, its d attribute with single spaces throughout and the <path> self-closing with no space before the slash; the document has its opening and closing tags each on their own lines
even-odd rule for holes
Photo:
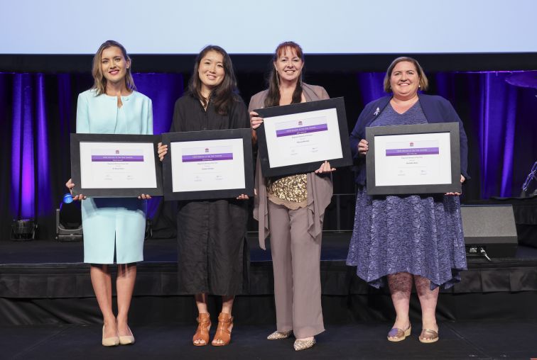
<svg viewBox="0 0 537 360">
<path fill-rule="evenodd" d="M 266 340 L 274 328 L 236 326 L 227 347 L 194 347 L 192 325 L 132 327 L 136 344 L 100 345 L 100 325 L 1 326 L 2 359 L 530 359 L 537 356 L 537 321 L 441 322 L 440 340 L 418 342 L 421 325 L 403 342 L 386 340 L 391 323 L 327 325 L 313 349 L 293 350 L 293 338 Z M 211 331 L 211 335 L 214 330 Z"/>
</svg>

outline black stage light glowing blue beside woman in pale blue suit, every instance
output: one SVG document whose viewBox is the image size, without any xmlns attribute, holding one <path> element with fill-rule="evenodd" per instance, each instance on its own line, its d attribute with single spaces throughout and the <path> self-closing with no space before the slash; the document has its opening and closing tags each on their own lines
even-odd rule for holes
<svg viewBox="0 0 537 360">
<path fill-rule="evenodd" d="M 63 196 L 56 209 L 56 240 L 62 242 L 82 240 L 82 212 L 80 202 L 73 201 L 70 193 Z"/>
</svg>

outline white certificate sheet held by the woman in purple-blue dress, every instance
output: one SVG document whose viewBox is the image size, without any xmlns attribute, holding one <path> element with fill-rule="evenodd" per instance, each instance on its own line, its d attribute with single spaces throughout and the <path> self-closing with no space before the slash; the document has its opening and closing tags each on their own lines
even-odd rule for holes
<svg viewBox="0 0 537 360">
<path fill-rule="evenodd" d="M 450 133 L 375 137 L 375 185 L 451 184 Z"/>
</svg>

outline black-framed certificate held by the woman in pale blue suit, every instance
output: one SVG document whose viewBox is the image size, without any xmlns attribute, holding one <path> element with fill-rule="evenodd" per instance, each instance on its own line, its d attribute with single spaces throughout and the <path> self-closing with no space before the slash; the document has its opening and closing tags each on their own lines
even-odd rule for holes
<svg viewBox="0 0 537 360">
<path fill-rule="evenodd" d="M 160 135 L 71 134 L 73 194 L 92 197 L 163 195 Z"/>
</svg>

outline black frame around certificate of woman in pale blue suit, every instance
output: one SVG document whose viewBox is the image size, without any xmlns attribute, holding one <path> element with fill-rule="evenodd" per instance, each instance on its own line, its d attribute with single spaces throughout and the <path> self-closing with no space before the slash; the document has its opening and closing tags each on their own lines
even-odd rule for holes
<svg viewBox="0 0 537 360">
<path fill-rule="evenodd" d="M 80 181 L 80 142 L 141 142 L 153 144 L 156 188 L 82 188 L 82 181 Z M 150 196 L 162 196 L 162 164 L 157 154 L 158 142 L 161 142 L 160 135 L 71 134 L 71 178 L 72 182 L 75 183 L 72 194 L 77 195 L 82 193 L 84 196 L 94 198 L 134 198 L 140 196 L 142 193 Z"/>
</svg>

